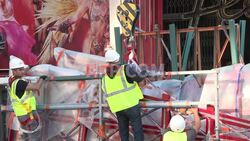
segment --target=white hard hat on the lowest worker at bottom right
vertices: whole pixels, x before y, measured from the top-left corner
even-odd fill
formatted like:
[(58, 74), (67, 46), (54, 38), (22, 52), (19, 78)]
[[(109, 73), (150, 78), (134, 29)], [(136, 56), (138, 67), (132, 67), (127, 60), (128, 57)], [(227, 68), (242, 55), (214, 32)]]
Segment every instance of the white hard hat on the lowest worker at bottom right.
[(184, 131), (186, 127), (185, 120), (180, 115), (173, 116), (170, 120), (169, 125), (170, 125), (171, 130), (174, 132), (182, 132)]

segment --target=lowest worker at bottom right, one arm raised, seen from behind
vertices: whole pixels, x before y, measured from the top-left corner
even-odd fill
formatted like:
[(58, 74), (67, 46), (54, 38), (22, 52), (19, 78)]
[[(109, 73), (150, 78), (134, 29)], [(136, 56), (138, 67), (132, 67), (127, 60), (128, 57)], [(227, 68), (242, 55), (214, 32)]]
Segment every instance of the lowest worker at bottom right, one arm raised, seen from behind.
[(201, 127), (201, 121), (197, 108), (191, 108), (189, 111), (194, 116), (194, 126), (185, 129), (186, 123), (181, 115), (175, 115), (171, 118), (167, 132), (163, 136), (163, 141), (195, 141), (196, 134)]

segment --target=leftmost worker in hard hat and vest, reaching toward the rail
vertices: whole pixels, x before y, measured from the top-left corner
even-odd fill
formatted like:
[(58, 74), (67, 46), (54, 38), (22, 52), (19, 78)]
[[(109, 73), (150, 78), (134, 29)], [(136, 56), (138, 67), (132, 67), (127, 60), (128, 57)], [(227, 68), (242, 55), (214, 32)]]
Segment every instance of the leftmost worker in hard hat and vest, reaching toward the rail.
[(41, 124), (36, 112), (36, 99), (32, 91), (39, 90), (46, 76), (41, 76), (36, 83), (27, 82), (22, 78), (26, 66), (23, 60), (10, 56), (9, 68), (12, 73), (9, 78), (10, 99), (20, 123), (20, 131), (23, 132), (22, 139), (36, 141), (41, 140)]

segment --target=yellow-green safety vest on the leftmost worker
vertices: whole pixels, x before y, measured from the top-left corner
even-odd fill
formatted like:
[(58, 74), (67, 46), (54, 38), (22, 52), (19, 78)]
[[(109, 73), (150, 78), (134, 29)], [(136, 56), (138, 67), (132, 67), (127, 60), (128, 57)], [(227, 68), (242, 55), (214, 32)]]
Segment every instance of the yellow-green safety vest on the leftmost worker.
[(17, 97), (16, 86), (19, 80), (17, 79), (11, 84), (10, 98), (16, 116), (24, 116), (31, 113), (32, 110), (36, 110), (36, 98), (32, 91), (24, 91), (21, 98)]

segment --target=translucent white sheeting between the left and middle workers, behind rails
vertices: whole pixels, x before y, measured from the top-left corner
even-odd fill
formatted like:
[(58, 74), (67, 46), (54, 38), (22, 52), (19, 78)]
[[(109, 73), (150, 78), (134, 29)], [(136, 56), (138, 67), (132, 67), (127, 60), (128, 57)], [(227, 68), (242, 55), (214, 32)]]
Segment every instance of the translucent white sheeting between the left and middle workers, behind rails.
[[(31, 75), (77, 76), (83, 72), (42, 64), (33, 67)], [(97, 102), (98, 80), (88, 81), (49, 81), (44, 84), (39, 104), (76, 104)], [(95, 110), (49, 110), (41, 114), (43, 120), (43, 138), (45, 140), (67, 133), (78, 121), (91, 128)]]

